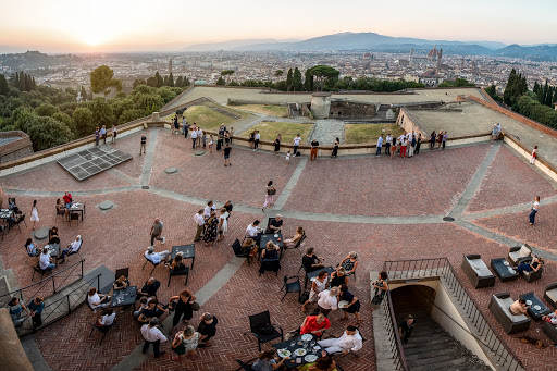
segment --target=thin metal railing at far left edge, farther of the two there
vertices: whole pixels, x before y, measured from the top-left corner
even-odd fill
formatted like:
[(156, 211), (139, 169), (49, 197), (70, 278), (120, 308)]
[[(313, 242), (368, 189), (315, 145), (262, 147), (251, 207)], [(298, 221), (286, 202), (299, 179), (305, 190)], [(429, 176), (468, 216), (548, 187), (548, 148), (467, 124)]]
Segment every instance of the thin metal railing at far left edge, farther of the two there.
[[(61, 287), (64, 287), (64, 285), (67, 286), (76, 282), (77, 280), (83, 279), (84, 261), (85, 259), (82, 259), (71, 265), (67, 265), (60, 272), (53, 273), (48, 277), (40, 280), (39, 282), (13, 290), (11, 293), (1, 295), (0, 306), (5, 307), (14, 296), (18, 297), (20, 301), (27, 302), (28, 300), (34, 299), (37, 296), (47, 297), (55, 294), (58, 290), (60, 290)], [(74, 277), (75, 280), (69, 281), (71, 277)]]

